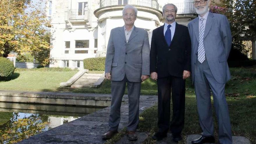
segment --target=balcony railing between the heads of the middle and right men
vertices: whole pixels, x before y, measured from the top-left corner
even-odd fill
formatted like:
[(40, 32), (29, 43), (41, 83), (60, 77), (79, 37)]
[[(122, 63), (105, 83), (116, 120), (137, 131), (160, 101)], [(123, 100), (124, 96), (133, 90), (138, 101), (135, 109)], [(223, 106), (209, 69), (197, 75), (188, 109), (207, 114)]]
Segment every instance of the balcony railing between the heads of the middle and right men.
[(177, 14), (196, 13), (193, 2), (189, 2), (189, 3), (173, 3), (173, 4), (175, 6), (177, 6), (177, 8), (178, 8)]

